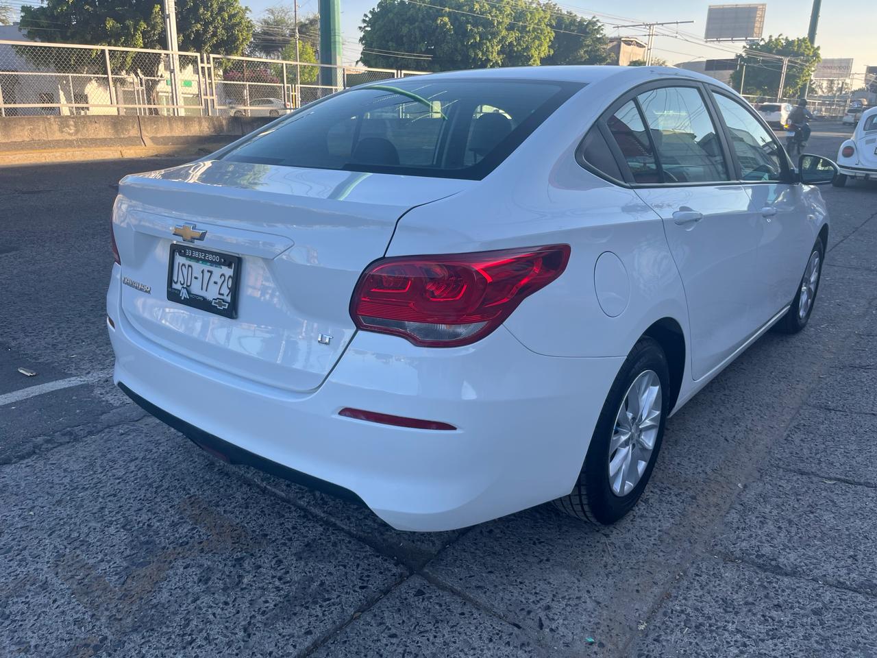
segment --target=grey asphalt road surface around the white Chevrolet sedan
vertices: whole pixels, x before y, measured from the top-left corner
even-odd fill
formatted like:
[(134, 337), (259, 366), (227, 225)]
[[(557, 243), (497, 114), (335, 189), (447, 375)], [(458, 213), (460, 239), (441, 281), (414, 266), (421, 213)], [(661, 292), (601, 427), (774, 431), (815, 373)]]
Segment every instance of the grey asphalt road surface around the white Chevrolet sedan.
[(669, 421), (627, 519), (417, 534), (113, 389), (115, 183), (175, 162), (0, 169), (0, 655), (877, 656), (877, 185), (824, 188), (808, 329)]

